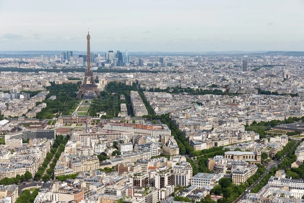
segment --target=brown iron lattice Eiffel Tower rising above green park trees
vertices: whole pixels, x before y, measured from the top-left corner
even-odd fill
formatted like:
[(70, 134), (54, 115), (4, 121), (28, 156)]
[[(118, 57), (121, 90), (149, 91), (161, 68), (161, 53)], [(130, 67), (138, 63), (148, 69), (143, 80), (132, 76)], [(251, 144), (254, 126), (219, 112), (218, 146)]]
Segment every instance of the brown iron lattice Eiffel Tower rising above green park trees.
[(85, 67), (85, 78), (83, 79), (82, 85), (78, 91), (76, 96), (79, 99), (84, 92), (94, 92), (95, 96), (99, 96), (99, 92), (97, 89), (97, 85), (95, 84), (95, 80), (93, 77), (92, 67), (91, 67), (91, 48), (90, 48), (90, 35), (88, 31), (87, 35), (87, 65)]

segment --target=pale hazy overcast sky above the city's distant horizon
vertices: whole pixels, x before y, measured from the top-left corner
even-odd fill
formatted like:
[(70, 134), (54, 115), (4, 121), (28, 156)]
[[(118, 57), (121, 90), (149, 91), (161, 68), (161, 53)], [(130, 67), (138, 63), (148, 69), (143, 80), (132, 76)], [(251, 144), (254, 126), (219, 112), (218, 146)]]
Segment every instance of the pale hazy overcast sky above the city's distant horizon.
[(0, 50), (304, 51), (303, 0), (0, 0)]

